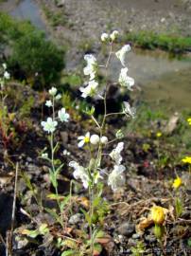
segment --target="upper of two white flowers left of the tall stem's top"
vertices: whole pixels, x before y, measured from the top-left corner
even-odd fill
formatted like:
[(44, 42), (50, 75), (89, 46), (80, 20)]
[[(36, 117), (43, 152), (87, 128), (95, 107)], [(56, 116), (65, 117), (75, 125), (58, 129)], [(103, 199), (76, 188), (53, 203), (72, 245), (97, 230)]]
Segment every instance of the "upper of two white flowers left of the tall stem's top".
[(96, 77), (96, 58), (92, 54), (86, 54), (84, 60), (87, 62), (87, 66), (83, 68), (85, 76), (90, 76), (90, 80), (94, 80)]

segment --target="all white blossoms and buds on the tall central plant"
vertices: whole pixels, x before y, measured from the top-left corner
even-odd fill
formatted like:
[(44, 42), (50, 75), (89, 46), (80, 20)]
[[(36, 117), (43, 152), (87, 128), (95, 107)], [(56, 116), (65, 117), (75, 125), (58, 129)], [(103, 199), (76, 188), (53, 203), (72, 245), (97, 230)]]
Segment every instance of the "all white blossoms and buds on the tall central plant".
[[(112, 46), (114, 40), (119, 36), (118, 31), (114, 30), (111, 34), (103, 33), (101, 35), (101, 41), (104, 43), (109, 43), (111, 46), (111, 54), (119, 59), (122, 64), (122, 68), (119, 74), (118, 82), (121, 86), (126, 87), (129, 90), (132, 90), (132, 86), (134, 85), (134, 80), (128, 76), (128, 67), (126, 63), (126, 55), (130, 51), (130, 45), (123, 46), (120, 50), (113, 52)], [(86, 86), (79, 87), (81, 92), (82, 98), (87, 97), (94, 97), (98, 95), (99, 85), (96, 81), (97, 69), (98, 67), (103, 67), (103, 65), (98, 65), (96, 61), (96, 57), (92, 54), (87, 54), (84, 56), (84, 60), (86, 61), (87, 65), (83, 69), (83, 73), (85, 76), (89, 77), (89, 82), (86, 82)], [(108, 62), (104, 67), (107, 69), (108, 63), (110, 61), (110, 57)], [(49, 104), (49, 103), (48, 103)], [(130, 103), (127, 101), (123, 102), (123, 111), (121, 114), (128, 116), (130, 118), (134, 118), (135, 116), (135, 109), (130, 107)], [(105, 113), (106, 115), (106, 113)], [(96, 122), (97, 124), (97, 122)], [(103, 126), (98, 124), (100, 129), (103, 129)], [(92, 153), (93, 150), (96, 150), (97, 147), (97, 157), (100, 157), (97, 160), (97, 163), (94, 165), (94, 170), (90, 170), (89, 167), (82, 167), (78, 164), (78, 162), (70, 162), (69, 166), (72, 167), (74, 171), (74, 177), (81, 179), (84, 188), (88, 188), (91, 184), (91, 181), (94, 180), (94, 183), (97, 182), (99, 178), (102, 178), (101, 172), (106, 173), (106, 169), (100, 170), (100, 160), (101, 156), (100, 151), (102, 152), (104, 145), (108, 144), (108, 137), (102, 136), (102, 132), (100, 132), (101, 136), (96, 134), (91, 135), (90, 132), (87, 132), (84, 136), (78, 137), (78, 147), (82, 148), (85, 145), (88, 145), (86, 149), (90, 150)], [(117, 138), (122, 138), (121, 132), (117, 134)], [(113, 191), (116, 191), (118, 188), (124, 185), (124, 177), (123, 173), (126, 170), (126, 167), (122, 165), (122, 155), (121, 152), (124, 149), (124, 143), (119, 142), (116, 145), (116, 148), (109, 154), (110, 157), (113, 159), (113, 170), (108, 174), (108, 185), (112, 187)]]

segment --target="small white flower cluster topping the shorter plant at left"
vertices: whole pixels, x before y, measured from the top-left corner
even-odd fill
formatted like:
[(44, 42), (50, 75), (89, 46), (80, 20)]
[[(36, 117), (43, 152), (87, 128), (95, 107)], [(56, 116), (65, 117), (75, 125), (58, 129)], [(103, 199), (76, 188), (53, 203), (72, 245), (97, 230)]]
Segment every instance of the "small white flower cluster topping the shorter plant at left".
[[(61, 94), (57, 94), (57, 88), (52, 87), (49, 91), (49, 95), (52, 97), (52, 100), (46, 101), (45, 105), (47, 107), (52, 107), (54, 112), (54, 104), (55, 101), (59, 101), (61, 99)], [(66, 113), (65, 108), (62, 107), (61, 110), (58, 112), (58, 117), (55, 118), (55, 115), (53, 115), (53, 118), (48, 117), (46, 121), (42, 121), (43, 131), (47, 132), (48, 134), (54, 133), (59, 119), (61, 122), (67, 122), (70, 118), (70, 115)]]

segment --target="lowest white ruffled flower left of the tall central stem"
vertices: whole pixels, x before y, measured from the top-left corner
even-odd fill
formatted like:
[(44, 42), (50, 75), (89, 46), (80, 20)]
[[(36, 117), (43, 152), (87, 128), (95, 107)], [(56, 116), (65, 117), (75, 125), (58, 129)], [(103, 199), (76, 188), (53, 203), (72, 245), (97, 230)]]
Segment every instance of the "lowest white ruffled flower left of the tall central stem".
[(75, 172), (73, 173), (74, 177), (76, 179), (80, 178), (83, 183), (83, 187), (87, 189), (89, 185), (89, 177), (85, 168), (80, 166), (76, 161), (69, 162), (69, 166), (75, 169)]

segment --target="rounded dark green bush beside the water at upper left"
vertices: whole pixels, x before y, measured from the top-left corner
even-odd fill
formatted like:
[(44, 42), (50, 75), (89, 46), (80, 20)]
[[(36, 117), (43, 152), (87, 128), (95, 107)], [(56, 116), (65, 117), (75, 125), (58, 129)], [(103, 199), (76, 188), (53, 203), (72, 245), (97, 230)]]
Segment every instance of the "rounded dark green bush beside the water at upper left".
[(0, 12), (0, 34), (1, 43), (11, 48), (9, 66), (12, 70), (18, 71), (19, 66), (22, 77), (32, 85), (40, 83), (38, 89), (59, 81), (64, 50), (48, 41), (43, 32), (28, 22), (15, 21)]

